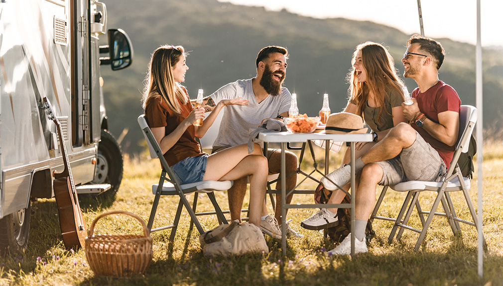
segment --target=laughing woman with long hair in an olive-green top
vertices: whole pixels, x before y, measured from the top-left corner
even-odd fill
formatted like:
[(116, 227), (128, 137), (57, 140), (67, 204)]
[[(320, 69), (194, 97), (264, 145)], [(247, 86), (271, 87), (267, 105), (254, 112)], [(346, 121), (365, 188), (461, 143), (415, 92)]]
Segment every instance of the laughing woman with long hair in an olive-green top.
[[(386, 136), (389, 130), (400, 122), (405, 122), (402, 113), (403, 81), (398, 78), (394, 61), (381, 44), (366, 42), (356, 47), (351, 60), (352, 68), (347, 80), (349, 100), (344, 112), (360, 115), (372, 129), (373, 142), (357, 142), (355, 158), (361, 158), (376, 142)], [(346, 151), (342, 165), (350, 161), (350, 150)], [(321, 179), (325, 189), (334, 191), (337, 186), (329, 180), (330, 174)], [(350, 185), (343, 189), (347, 192)], [(328, 204), (339, 204), (346, 193), (337, 190), (331, 193)], [(337, 225), (337, 208), (323, 208), (301, 225), (311, 230), (319, 230)], [(367, 222), (365, 222), (367, 223)], [(365, 229), (365, 228), (364, 228)]]

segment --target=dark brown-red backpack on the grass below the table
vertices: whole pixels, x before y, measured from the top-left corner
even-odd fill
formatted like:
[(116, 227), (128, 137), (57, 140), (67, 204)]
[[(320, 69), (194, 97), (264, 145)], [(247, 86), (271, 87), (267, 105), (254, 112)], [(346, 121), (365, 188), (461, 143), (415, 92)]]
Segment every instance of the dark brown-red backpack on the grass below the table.
[[(323, 185), (319, 184), (314, 191), (314, 201), (317, 204), (326, 204), (328, 198), (332, 191), (326, 190)], [(341, 202), (342, 204), (350, 203), (350, 196), (346, 194), (346, 197)], [(330, 237), (331, 240), (335, 242), (343, 241), (348, 234), (351, 232), (351, 210), (347, 208), (337, 209), (338, 224), (336, 226), (329, 227), (325, 229), (325, 233)], [(372, 229), (372, 223), (370, 220), (367, 222), (367, 227), (365, 228), (365, 235), (367, 241), (370, 241), (375, 235), (375, 231)]]

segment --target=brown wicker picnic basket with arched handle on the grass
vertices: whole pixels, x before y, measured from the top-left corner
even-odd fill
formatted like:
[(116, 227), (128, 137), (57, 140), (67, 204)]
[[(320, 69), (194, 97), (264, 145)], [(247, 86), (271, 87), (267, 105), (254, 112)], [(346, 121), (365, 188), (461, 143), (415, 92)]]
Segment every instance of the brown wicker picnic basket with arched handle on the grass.
[[(96, 222), (107, 215), (126, 214), (137, 219), (145, 235), (97, 234)], [(112, 211), (99, 215), (91, 224), (86, 237), (86, 257), (96, 275), (131, 276), (143, 274), (152, 260), (152, 237), (145, 222), (137, 215), (125, 211)]]

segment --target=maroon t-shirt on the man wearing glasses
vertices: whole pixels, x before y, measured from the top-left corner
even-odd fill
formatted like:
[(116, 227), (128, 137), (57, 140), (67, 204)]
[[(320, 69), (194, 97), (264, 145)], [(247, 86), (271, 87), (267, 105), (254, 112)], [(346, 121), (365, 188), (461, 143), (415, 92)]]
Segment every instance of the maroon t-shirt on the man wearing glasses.
[[(439, 123), (439, 113), (444, 111), (456, 111), (459, 113), (461, 106), (458, 93), (454, 88), (441, 80), (424, 93), (419, 92), (419, 88), (417, 87), (412, 91), (411, 96), (417, 100), (419, 110), (425, 113), (428, 119), (436, 123)], [(444, 160), (445, 165), (449, 168), (456, 146), (449, 146), (437, 140), (423, 127), (417, 127), (415, 124), (412, 124), (412, 127), (433, 147), (433, 149), (437, 150), (440, 157)]]

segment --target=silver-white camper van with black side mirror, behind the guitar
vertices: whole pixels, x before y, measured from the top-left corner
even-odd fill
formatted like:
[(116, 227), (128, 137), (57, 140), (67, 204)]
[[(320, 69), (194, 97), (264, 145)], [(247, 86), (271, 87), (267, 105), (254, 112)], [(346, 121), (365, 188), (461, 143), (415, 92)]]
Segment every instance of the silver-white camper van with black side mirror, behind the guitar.
[(107, 30), (104, 3), (0, 0), (0, 254), (27, 246), (31, 202), (54, 197), (64, 153), (77, 194), (117, 191), (122, 152), (107, 130), (100, 66), (120, 70), (132, 57), (127, 34)]

